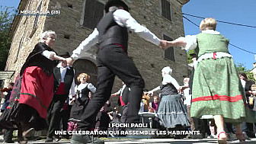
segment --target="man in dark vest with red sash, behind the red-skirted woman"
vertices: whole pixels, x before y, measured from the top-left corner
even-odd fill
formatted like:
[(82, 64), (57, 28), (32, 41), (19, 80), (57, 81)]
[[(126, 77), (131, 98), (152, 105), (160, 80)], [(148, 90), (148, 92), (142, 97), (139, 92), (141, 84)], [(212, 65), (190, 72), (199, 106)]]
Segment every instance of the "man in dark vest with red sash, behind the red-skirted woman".
[[(69, 57), (69, 53), (61, 55), (64, 58)], [(75, 80), (74, 69), (67, 66), (64, 62), (59, 64), (53, 69), (54, 85), (53, 85), (53, 101), (47, 112), (47, 119), (49, 123), (49, 129), (47, 133), (46, 142), (59, 141), (59, 136), (54, 135), (54, 131), (60, 130), (60, 111), (64, 106), (66, 99), (72, 99), (75, 95)]]

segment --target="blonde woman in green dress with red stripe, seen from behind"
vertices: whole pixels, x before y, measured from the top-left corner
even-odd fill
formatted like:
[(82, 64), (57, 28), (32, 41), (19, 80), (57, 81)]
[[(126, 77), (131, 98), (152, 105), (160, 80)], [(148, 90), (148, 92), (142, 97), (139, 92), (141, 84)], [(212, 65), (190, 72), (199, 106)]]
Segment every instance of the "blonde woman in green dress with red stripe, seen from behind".
[(218, 142), (226, 143), (224, 121), (235, 124), (236, 136), (244, 141), (241, 124), (247, 117), (245, 95), (235, 63), (229, 53), (229, 39), (216, 31), (216, 20), (205, 18), (200, 23), (200, 34), (180, 37), (168, 46), (195, 49), (198, 55), (194, 72), (191, 117), (213, 115)]

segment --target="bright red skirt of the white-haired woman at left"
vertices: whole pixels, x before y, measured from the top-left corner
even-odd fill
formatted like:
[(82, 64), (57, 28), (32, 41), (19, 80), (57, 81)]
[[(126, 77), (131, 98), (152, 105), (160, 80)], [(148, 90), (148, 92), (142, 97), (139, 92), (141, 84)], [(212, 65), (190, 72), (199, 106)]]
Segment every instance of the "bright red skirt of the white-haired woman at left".
[(53, 75), (46, 75), (40, 67), (25, 69), (21, 82), (20, 104), (27, 104), (46, 119), (47, 108), (53, 99)]

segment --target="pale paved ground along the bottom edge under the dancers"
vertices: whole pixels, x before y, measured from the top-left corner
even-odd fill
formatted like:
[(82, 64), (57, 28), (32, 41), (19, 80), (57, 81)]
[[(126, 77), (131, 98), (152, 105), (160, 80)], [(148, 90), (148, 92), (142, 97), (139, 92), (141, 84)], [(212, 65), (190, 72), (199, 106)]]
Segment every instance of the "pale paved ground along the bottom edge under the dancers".
[[(200, 143), (200, 144), (211, 144), (211, 143), (217, 143), (216, 139), (115, 139), (115, 138), (110, 138), (110, 139), (104, 139), (106, 144), (125, 144), (125, 143), (138, 143), (138, 144), (166, 144), (166, 143), (171, 143), (171, 144), (192, 144), (192, 143)], [(3, 142), (3, 136), (0, 136), (0, 143)], [(18, 142), (15, 142), (18, 143)], [(45, 143), (44, 139), (37, 140), (37, 141), (29, 141), (28, 143)], [(50, 142), (50, 143), (70, 143), (69, 139), (62, 139), (59, 142)], [(235, 141), (229, 141), (229, 144), (231, 143), (240, 143), (238, 140)], [(248, 139), (244, 143), (248, 144), (255, 144), (256, 143), (256, 138), (254, 139)]]

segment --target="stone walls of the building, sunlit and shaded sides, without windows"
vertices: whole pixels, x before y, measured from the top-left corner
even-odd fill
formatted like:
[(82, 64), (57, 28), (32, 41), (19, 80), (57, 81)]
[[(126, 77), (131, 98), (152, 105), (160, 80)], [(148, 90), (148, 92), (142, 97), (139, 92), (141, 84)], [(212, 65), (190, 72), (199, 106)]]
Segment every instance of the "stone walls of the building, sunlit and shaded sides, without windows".
[[(25, 0), (23, 0), (25, 1)], [(27, 1), (27, 7), (29, 2)], [(105, 3), (105, 0), (99, 0)], [(149, 28), (157, 37), (163, 38), (163, 34), (176, 39), (184, 35), (184, 25), (181, 14), (181, 2), (169, 0), (171, 2), (172, 21), (162, 17), (161, 1), (160, 0), (125, 0), (130, 7), (130, 14), (139, 24)], [(31, 9), (37, 8), (40, 0), (32, 2)], [(21, 69), (27, 55), (33, 50), (34, 45), (39, 41), (40, 34), (44, 30), (54, 30), (57, 34), (56, 52), (69, 51), (72, 53), (82, 40), (85, 40), (92, 30), (82, 27), (82, 8), (85, 0), (43, 0), (43, 10), (59, 10), (60, 14), (55, 16), (41, 16), (39, 24), (33, 37), (29, 37), (32, 31), (34, 16), (23, 17), (18, 24), (18, 28), (14, 33), (13, 42), (11, 44), (11, 51), (8, 57), (6, 70), (15, 70), (17, 72)], [(72, 5), (72, 6), (71, 6)], [(18, 52), (21, 37), (24, 35), (23, 44), (15, 61), (15, 56)], [(65, 38), (69, 36), (69, 39)], [(180, 85), (183, 84), (183, 78), (187, 76), (187, 53), (178, 48), (174, 49), (175, 62), (163, 58), (163, 50), (158, 46), (143, 40), (138, 35), (130, 33), (129, 37), (129, 56), (133, 58), (139, 72), (146, 82), (146, 89), (151, 90), (162, 82), (161, 70), (165, 66), (170, 66), (173, 69), (173, 77), (177, 79)], [(95, 59), (96, 48), (92, 48), (91, 59)], [(114, 90), (117, 91), (121, 86), (120, 79), (114, 84)]]

